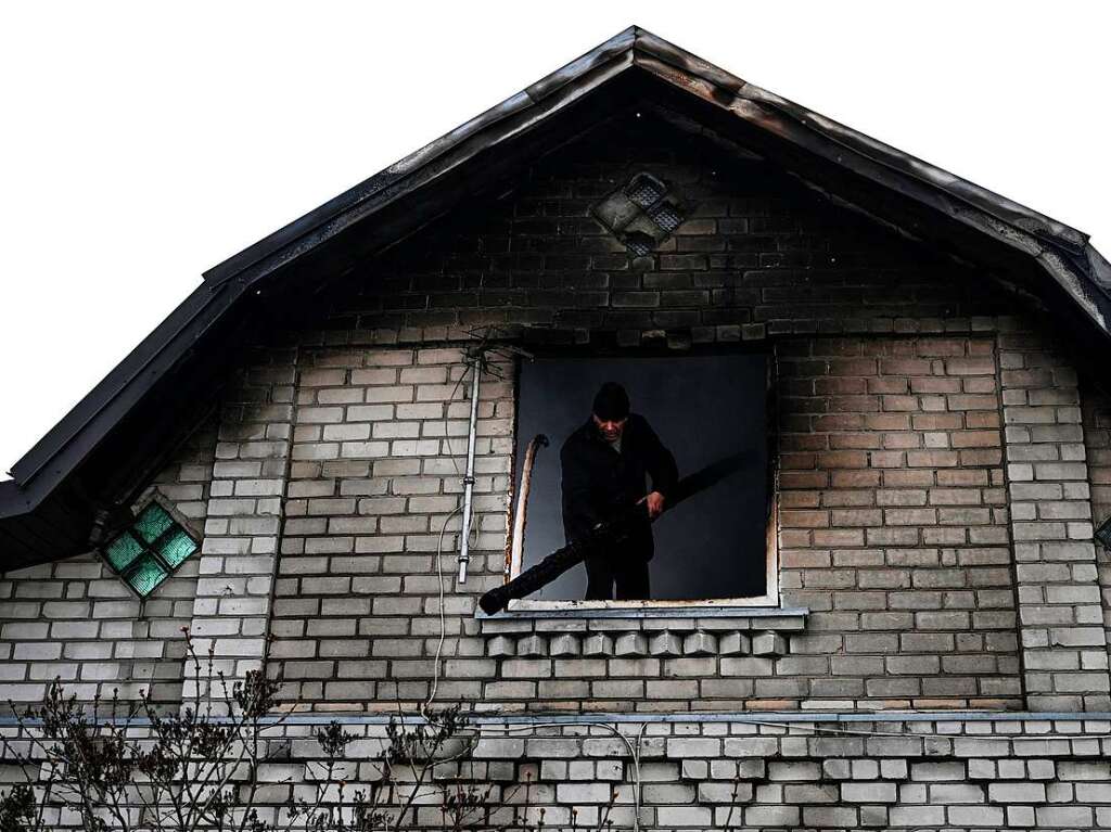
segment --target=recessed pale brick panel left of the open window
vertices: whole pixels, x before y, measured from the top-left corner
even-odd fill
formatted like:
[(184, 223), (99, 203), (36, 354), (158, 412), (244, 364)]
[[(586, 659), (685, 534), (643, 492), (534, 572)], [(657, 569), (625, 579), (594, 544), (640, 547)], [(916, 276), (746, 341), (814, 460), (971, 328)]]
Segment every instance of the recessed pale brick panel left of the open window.
[[(474, 612), (470, 590), (501, 574), (513, 400), (509, 383), (484, 379), (473, 503), (479, 554), (459, 594), (460, 519), (452, 512), (461, 502), (469, 415), (462, 361), (458, 348), (302, 355), (271, 649), (290, 695), (356, 710), (428, 695), (440, 633), (436, 555), (447, 523), (449, 661), (440, 692), (481, 696), (478, 680), (493, 662), (481, 658), (480, 640), (459, 635)], [(512, 371), (507, 363), (492, 369)]]

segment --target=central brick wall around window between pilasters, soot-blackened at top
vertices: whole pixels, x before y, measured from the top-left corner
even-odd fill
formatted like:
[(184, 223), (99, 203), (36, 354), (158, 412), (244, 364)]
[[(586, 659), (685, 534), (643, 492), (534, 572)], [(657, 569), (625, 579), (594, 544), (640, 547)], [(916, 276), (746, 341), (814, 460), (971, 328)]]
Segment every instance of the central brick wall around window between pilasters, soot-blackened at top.
[[(640, 169), (693, 207), (658, 254), (630, 258), (589, 208)], [(367, 263), (332, 310), (302, 337), (274, 608), (272, 656), (302, 696), (382, 708), (429, 690), (431, 551), (460, 489), (449, 449), (462, 453), (439, 420), (454, 393), (447, 429), (462, 437), (466, 390), (452, 389), (458, 350), (406, 344), (498, 323), (567, 344), (773, 341), (783, 597), (813, 612), (801, 632), (625, 622), (627, 638), (611, 626), (599, 641), (540, 622), (478, 638), (474, 595), (500, 580), (512, 431), (512, 391), (488, 384), (484, 560), (469, 588), (446, 569), (443, 695), (537, 710), (1021, 705), (994, 352), (1014, 310), (974, 273), (764, 166), (619, 126), (503, 203)]]

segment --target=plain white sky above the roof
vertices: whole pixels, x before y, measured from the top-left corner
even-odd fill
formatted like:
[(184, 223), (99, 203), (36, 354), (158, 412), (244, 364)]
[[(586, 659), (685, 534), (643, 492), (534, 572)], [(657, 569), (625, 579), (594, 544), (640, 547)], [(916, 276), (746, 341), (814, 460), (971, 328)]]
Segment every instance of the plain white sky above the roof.
[(4, 3), (0, 472), (203, 270), (631, 23), (1111, 255), (1107, 3)]

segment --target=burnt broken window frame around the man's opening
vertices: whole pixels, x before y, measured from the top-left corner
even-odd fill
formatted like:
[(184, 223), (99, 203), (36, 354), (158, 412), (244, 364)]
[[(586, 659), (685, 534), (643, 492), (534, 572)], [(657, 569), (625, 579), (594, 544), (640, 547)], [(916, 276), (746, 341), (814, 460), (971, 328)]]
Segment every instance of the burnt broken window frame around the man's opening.
[[(673, 610), (675, 614), (688, 612), (698, 614), (699, 610), (707, 608), (744, 608), (744, 609), (780, 609), (782, 600), (780, 595), (779, 580), (779, 467), (780, 467), (780, 442), (779, 442), (779, 379), (777, 351), (774, 344), (761, 344), (757, 348), (739, 349), (712, 349), (699, 351), (699, 355), (729, 355), (744, 352), (763, 353), (765, 357), (765, 381), (764, 381), (764, 424), (768, 443), (768, 465), (767, 477), (767, 520), (764, 524), (764, 594), (748, 595), (742, 598), (713, 598), (713, 599), (647, 599), (637, 601), (582, 601), (574, 599), (539, 600), (539, 599), (514, 599), (510, 601), (507, 612), (559, 612), (575, 611), (589, 615), (591, 612), (605, 612), (611, 610), (625, 610), (630, 612), (651, 610)], [(657, 352), (648, 350), (637, 351), (614, 351), (605, 352), (591, 350), (589, 353), (581, 350), (546, 350), (538, 354), (544, 358), (578, 358), (589, 360), (590, 358), (653, 358), (653, 357), (675, 357), (674, 352)], [(510, 462), (510, 482), (508, 494), (508, 507), (506, 510), (506, 562), (503, 580), (509, 582), (517, 578), (520, 570), (512, 569), (513, 548), (513, 511), (517, 504), (517, 463), (518, 453), (523, 453), (524, 448), (518, 442), (518, 430), (520, 424), (520, 390), (521, 390), (521, 367), (522, 360), (517, 359), (513, 365), (513, 450)], [(523, 563), (522, 563), (523, 565)]]

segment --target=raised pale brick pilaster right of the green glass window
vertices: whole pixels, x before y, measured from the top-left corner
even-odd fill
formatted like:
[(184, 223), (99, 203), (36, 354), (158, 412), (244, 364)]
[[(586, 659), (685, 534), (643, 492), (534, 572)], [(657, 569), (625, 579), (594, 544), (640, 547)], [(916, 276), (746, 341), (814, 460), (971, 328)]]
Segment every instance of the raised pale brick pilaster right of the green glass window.
[[(292, 441), (297, 352), (258, 349), (226, 393), (190, 632), (234, 681), (266, 656)], [(186, 662), (187, 684), (196, 675)]]

